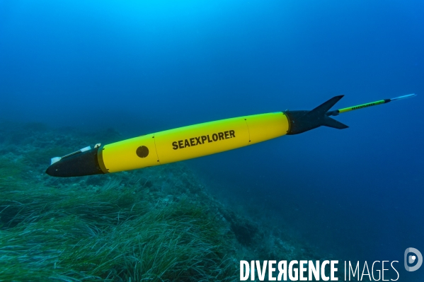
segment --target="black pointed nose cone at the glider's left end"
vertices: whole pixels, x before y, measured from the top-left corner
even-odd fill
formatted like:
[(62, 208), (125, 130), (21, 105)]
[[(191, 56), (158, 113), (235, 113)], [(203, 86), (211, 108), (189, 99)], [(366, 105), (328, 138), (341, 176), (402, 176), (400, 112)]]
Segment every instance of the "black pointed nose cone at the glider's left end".
[(98, 165), (98, 148), (77, 153), (66, 158), (62, 158), (50, 165), (45, 173), (55, 177), (73, 177), (84, 175), (99, 175), (104, 172)]

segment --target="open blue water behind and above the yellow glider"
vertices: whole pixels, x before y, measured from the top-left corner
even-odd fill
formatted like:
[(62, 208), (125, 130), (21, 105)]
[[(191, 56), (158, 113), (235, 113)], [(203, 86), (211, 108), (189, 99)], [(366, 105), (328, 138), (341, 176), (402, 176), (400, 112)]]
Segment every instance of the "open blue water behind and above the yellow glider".
[(130, 137), (417, 93), (336, 117), (349, 129), (186, 162), (299, 240), (398, 260), (413, 281), (424, 269), (402, 269), (407, 247), (424, 253), (423, 15), (422, 0), (0, 1), (0, 119)]

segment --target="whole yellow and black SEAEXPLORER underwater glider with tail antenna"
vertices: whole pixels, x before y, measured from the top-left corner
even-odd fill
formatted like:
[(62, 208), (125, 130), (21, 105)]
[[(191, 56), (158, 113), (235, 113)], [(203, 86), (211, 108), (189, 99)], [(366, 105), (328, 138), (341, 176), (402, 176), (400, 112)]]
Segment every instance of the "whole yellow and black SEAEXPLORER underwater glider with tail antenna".
[(55, 177), (74, 177), (135, 170), (229, 151), (321, 126), (345, 129), (347, 125), (330, 116), (413, 96), (416, 94), (330, 111), (343, 98), (340, 95), (310, 111), (253, 114), (160, 131), (105, 146), (96, 144), (94, 148), (88, 146), (63, 157), (52, 158), (46, 173)]

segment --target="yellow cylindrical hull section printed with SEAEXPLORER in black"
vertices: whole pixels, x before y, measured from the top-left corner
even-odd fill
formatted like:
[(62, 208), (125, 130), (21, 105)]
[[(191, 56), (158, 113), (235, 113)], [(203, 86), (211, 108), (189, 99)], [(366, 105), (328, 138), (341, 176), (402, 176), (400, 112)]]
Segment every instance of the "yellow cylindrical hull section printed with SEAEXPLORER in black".
[(288, 130), (283, 112), (234, 117), (111, 143), (99, 149), (98, 159), (105, 173), (135, 170), (241, 148)]

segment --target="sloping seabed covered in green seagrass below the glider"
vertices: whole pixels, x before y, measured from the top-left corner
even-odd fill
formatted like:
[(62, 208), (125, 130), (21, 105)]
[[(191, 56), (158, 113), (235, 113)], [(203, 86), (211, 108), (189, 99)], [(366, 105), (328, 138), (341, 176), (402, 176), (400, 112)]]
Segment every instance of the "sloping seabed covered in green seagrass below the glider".
[(0, 281), (239, 281), (240, 260), (333, 259), (288, 226), (222, 204), (184, 163), (45, 174), (52, 157), (121, 139), (0, 124)]

